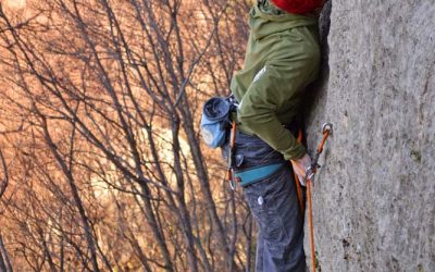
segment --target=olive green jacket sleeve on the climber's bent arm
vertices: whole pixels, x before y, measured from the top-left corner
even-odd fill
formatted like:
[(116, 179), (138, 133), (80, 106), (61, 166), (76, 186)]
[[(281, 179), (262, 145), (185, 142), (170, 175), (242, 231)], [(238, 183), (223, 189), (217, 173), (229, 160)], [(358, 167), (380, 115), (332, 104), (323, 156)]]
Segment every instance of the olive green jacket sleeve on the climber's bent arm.
[(318, 74), (319, 59), (318, 53), (299, 51), (284, 60), (266, 61), (264, 71), (257, 74), (240, 101), (239, 122), (286, 160), (299, 159), (306, 150), (281, 124), (277, 113), (299, 109), (303, 88)]

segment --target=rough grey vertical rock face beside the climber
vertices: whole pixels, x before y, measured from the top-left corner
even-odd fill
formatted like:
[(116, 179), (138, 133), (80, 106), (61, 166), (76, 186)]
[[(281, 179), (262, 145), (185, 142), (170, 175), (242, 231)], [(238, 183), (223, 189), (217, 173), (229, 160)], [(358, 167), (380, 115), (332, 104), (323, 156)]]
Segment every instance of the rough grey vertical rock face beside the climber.
[(325, 41), (308, 120), (311, 149), (335, 128), (313, 195), (321, 269), (435, 271), (435, 3), (335, 0)]

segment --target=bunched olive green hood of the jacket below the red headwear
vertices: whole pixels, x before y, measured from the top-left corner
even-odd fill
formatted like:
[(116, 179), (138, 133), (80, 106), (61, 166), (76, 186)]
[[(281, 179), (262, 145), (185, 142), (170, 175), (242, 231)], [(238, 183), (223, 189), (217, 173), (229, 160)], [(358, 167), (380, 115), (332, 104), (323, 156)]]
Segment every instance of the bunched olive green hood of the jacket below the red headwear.
[(249, 13), (249, 26), (254, 39), (281, 33), (293, 27), (318, 24), (316, 16), (284, 13), (279, 15), (263, 13), (257, 4)]

